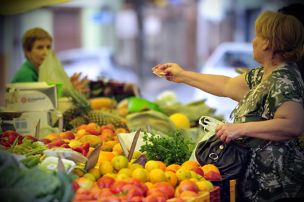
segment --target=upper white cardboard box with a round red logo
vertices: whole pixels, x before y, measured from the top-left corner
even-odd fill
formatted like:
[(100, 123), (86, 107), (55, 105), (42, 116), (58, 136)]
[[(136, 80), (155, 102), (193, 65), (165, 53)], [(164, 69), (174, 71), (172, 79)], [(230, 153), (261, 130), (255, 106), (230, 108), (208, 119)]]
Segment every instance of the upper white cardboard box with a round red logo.
[(5, 102), (6, 107), (14, 111), (57, 109), (57, 86), (45, 82), (6, 84)]

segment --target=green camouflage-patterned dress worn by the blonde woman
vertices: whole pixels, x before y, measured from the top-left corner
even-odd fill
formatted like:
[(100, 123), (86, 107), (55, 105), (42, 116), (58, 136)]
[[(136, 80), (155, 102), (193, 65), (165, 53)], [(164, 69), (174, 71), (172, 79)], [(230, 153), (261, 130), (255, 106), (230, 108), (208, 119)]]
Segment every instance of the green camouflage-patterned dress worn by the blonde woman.
[[(285, 101), (303, 103), (303, 80), (295, 63), (277, 67), (261, 81), (264, 67), (246, 74), (250, 87), (239, 102), (234, 123), (273, 119)], [(292, 128), (290, 128), (292, 130)], [(240, 179), (241, 195), (246, 201), (274, 201), (284, 197), (304, 197), (304, 133), (298, 138), (269, 142), (251, 158)], [(249, 148), (257, 148), (264, 140), (251, 137), (238, 139)]]

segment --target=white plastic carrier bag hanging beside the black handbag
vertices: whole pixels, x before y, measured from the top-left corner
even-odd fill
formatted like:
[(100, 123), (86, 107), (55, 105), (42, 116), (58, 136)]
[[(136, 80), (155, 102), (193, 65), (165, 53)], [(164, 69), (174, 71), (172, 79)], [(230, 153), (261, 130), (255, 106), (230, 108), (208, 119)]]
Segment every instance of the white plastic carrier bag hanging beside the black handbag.
[[(206, 133), (206, 135), (204, 135), (204, 137), (199, 142), (202, 142), (202, 141), (205, 141), (205, 140), (209, 139), (212, 135), (215, 134), (214, 131), (215, 131), (216, 126), (222, 125), (223, 123), (226, 123), (226, 121), (219, 121), (219, 120), (217, 120), (215, 118), (212, 118), (212, 117), (209, 117), (209, 116), (202, 116), (199, 119), (199, 124), (203, 126), (204, 132)], [(199, 144), (199, 142), (197, 142), (197, 144)], [(196, 145), (196, 147), (197, 147), (197, 145)], [(195, 161), (196, 163), (199, 163), (196, 160), (196, 157), (195, 157), (196, 147), (193, 150), (189, 160), (192, 160), (192, 161)]]

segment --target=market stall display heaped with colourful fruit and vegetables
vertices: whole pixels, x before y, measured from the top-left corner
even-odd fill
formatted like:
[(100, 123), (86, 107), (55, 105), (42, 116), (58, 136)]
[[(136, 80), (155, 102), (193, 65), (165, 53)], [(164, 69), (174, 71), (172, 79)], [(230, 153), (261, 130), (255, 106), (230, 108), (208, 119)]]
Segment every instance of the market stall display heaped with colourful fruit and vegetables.
[[(63, 118), (53, 120), (51, 128), (59, 131), (58, 134), (40, 133), (39, 136), (39, 125), (36, 134), (24, 137), (13, 130), (2, 132), (1, 179), (10, 176), (11, 183), (6, 188), (13, 190), (2, 192), (3, 199), (236, 200), (237, 180), (221, 176), (216, 166), (189, 160), (195, 141), (204, 135), (197, 127), (198, 120), (190, 120), (179, 111), (164, 112), (161, 101), (149, 102), (130, 94), (129, 97), (119, 95), (123, 98), (120, 101), (114, 95), (88, 98), (75, 89), (62, 95), (70, 104), (61, 111)], [(193, 110), (193, 106), (198, 105), (202, 108), (202, 104), (190, 104), (181, 109)], [(137, 132), (132, 132), (137, 127)], [(12, 173), (8, 174), (12, 167)], [(31, 194), (14, 195), (15, 190), (24, 186), (22, 176), (35, 172), (42, 177), (27, 181), (28, 186), (33, 187), (29, 189)], [(55, 182), (41, 182), (50, 178)], [(45, 186), (44, 191), (38, 191), (39, 184)]]

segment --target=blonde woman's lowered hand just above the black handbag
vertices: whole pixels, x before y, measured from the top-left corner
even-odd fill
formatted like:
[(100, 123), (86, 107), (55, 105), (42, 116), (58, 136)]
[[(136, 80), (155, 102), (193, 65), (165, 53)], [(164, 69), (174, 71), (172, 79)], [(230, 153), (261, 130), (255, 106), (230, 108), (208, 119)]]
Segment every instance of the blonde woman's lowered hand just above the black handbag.
[(242, 137), (242, 125), (237, 123), (224, 123), (218, 125), (214, 132), (220, 140), (229, 143), (233, 139)]

